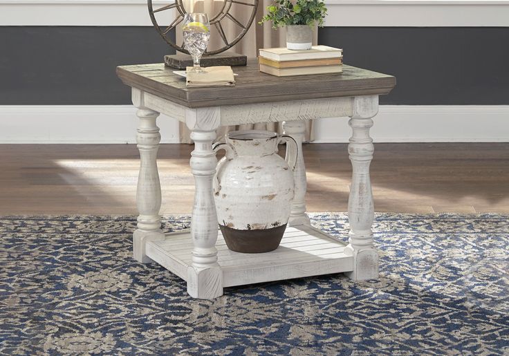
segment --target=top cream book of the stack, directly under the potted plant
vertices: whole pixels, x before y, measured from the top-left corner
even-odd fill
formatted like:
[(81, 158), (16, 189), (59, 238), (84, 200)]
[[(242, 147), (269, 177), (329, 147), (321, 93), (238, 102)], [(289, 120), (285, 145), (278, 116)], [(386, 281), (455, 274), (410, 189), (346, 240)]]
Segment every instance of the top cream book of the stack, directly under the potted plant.
[(313, 46), (311, 50), (289, 50), (288, 48), (260, 48), (260, 57), (273, 61), (295, 61), (299, 59), (340, 58), (343, 55), (341, 48), (329, 46)]

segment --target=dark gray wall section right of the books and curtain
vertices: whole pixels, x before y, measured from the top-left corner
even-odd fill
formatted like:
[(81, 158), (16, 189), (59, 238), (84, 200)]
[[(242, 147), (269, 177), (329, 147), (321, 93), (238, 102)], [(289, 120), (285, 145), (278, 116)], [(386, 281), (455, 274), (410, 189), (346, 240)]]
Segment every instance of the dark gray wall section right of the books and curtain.
[(396, 75), (384, 104), (509, 104), (509, 28), (322, 28), (344, 62)]

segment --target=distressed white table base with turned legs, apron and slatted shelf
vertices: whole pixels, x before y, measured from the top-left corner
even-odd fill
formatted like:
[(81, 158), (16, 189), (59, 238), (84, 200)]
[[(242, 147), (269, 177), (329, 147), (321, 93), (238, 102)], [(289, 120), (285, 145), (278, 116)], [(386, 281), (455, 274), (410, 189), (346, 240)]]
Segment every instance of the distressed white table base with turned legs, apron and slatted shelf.
[[(146, 261), (154, 259), (184, 278), (189, 294), (200, 299), (219, 297), (223, 294), (225, 286), (333, 272), (348, 272), (355, 280), (378, 277), (378, 254), (373, 247), (371, 233), (373, 198), (369, 181), (369, 163), (373, 156), (369, 128), (373, 124), (371, 118), (378, 111), (378, 96), (350, 97), (326, 102), (330, 106), (323, 106), (325, 103), (323, 100), (304, 100), (298, 104), (290, 102), (279, 103), (276, 106), (259, 104), (260, 109), (253, 108), (250, 104), (189, 109), (133, 89), (133, 103), (140, 108), (138, 116), (143, 123), (140, 124), (139, 133), (140, 152), (142, 149), (145, 150), (142, 153), (140, 177), (143, 176), (143, 179), (140, 179), (142, 183), (139, 190), (148, 191), (148, 194), (138, 196), (138, 200), (142, 202), (141, 209), (150, 211), (149, 214), (141, 214), (140, 209), (140, 216), (144, 219), (140, 222), (141, 225), (138, 225), (137, 232), (139, 234), (141, 226), (145, 238), (136, 245), (138, 247), (135, 246), (135, 250), (140, 251), (140, 259)], [(292, 108), (293, 104), (297, 109)], [(305, 129), (303, 120), (331, 115), (331, 111), (334, 111), (335, 115), (350, 116), (353, 131), (349, 144), (353, 165), (349, 198), (351, 232), (349, 245), (346, 247), (334, 238), (310, 227), (304, 200), (306, 169), (302, 156)], [(160, 207), (160, 188), (155, 162), (157, 144), (160, 140), (156, 127), (158, 112), (169, 115), (173, 112), (175, 118), (184, 121), (192, 130), (191, 138), (195, 142), (190, 161), (196, 182), (191, 229), (189, 233), (172, 234), (164, 239), (161, 238), (159, 216), (156, 214)], [(237, 118), (232, 117), (233, 113)], [(291, 236), (290, 240), (286, 240), (289, 244), (283, 244), (273, 252), (249, 256), (228, 250), (224, 246), (223, 238), (218, 241), (218, 221), (212, 186), (217, 160), (212, 142), (216, 138), (215, 130), (221, 124), (250, 122), (254, 120), (253, 113), (259, 115), (257, 122), (284, 120), (296, 115), (294, 119), (297, 120), (284, 122), (284, 131), (295, 140), (295, 147), (288, 146), (288, 158), (297, 151), (297, 160), (293, 177), (295, 197), (290, 209), (291, 227), (288, 227), (285, 234), (287, 237)], [(231, 147), (230, 149), (233, 151)], [(157, 184), (147, 183), (154, 180)], [(149, 203), (146, 201), (147, 197)], [(145, 216), (150, 216), (151, 220), (147, 222)], [(295, 229), (295, 226), (298, 228)], [(150, 233), (146, 233), (149, 230)], [(151, 241), (148, 241), (149, 239)], [(304, 250), (299, 250), (301, 247)], [(328, 250), (329, 248), (333, 250)]]

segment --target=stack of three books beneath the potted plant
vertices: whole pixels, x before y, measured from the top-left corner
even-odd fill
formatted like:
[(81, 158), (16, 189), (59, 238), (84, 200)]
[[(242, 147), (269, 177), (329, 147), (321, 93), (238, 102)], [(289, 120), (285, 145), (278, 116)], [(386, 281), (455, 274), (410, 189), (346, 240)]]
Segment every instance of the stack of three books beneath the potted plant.
[(328, 46), (313, 46), (311, 50), (260, 48), (258, 62), (261, 72), (277, 77), (342, 73), (343, 50)]

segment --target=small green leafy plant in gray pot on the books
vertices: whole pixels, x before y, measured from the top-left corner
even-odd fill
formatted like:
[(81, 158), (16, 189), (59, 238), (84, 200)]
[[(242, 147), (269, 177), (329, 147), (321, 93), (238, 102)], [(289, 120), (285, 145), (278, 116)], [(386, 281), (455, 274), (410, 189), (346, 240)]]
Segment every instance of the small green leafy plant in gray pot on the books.
[(311, 49), (313, 27), (324, 26), (327, 14), (324, 0), (275, 0), (267, 11), (260, 24), (272, 21), (272, 28), (286, 26), (286, 48), (290, 50)]

